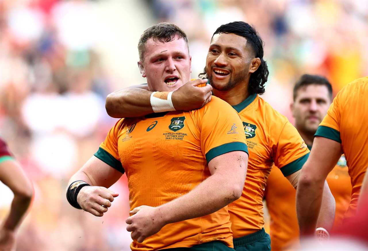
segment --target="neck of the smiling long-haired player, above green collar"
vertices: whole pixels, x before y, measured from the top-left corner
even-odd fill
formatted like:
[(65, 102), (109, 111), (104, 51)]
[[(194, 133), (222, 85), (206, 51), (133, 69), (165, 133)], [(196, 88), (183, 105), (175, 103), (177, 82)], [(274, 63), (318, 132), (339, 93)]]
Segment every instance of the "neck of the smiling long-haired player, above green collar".
[(212, 93), (213, 95), (221, 98), (230, 105), (240, 104), (249, 96), (248, 85), (244, 85), (243, 83), (239, 83), (233, 89), (230, 89), (228, 91), (219, 91), (216, 89), (212, 89)]

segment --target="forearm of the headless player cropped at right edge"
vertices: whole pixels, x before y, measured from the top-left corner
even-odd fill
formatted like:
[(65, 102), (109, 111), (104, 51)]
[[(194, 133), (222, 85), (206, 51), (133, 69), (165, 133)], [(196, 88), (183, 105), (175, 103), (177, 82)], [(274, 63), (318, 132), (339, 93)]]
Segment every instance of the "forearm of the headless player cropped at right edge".
[[(301, 176), (303, 177), (303, 174)], [(296, 207), (301, 236), (315, 231), (322, 204), (323, 184), (323, 180), (322, 182), (312, 182), (303, 178), (299, 180)]]

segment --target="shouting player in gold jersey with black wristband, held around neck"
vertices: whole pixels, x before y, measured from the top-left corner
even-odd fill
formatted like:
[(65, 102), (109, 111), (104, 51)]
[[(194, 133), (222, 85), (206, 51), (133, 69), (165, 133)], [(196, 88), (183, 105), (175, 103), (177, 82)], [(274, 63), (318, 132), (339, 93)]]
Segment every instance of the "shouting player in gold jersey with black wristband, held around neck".
[[(138, 50), (148, 88), (160, 91), (151, 97), (159, 107), (190, 80), (187, 37), (176, 25), (160, 23), (143, 33)], [(195, 111), (120, 119), (70, 179), (68, 201), (102, 216), (117, 196), (107, 187), (125, 172), (132, 250), (230, 250), (225, 206), (241, 196), (248, 161), (242, 126), (216, 97)]]

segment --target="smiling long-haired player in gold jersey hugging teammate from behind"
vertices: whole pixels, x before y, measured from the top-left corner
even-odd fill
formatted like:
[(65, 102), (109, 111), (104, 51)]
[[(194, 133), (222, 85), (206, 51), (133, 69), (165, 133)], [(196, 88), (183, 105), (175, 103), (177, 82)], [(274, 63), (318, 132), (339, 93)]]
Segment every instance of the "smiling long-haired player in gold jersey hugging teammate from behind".
[[(201, 76), (208, 77), (214, 96), (238, 112), (247, 135), (250, 153), (247, 179), (241, 198), (229, 205), (234, 247), (236, 250), (270, 250), (270, 238), (263, 229), (262, 200), (266, 180), (275, 163), (296, 187), (309, 150), (287, 118), (258, 95), (265, 92), (268, 68), (263, 60), (262, 39), (252, 26), (245, 22), (221, 25), (212, 36), (205, 72)], [(188, 96), (201, 91), (192, 82), (181, 88), (191, 89)], [(179, 91), (180, 88), (176, 92)], [(179, 95), (174, 94), (172, 103), (180, 103)], [(139, 88), (122, 89), (109, 95), (106, 110), (117, 117), (144, 115), (153, 110), (149, 102), (151, 95)], [(185, 97), (182, 100), (186, 103)], [(174, 108), (177, 107), (174, 105)], [(335, 215), (335, 200), (327, 184), (325, 195), (327, 211), (321, 215), (319, 223), (330, 228)]]

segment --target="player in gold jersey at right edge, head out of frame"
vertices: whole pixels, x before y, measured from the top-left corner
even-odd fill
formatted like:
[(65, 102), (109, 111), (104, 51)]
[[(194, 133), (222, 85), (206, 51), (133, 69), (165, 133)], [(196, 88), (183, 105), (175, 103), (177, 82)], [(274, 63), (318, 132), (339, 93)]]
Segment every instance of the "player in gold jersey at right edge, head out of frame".
[(354, 80), (337, 93), (315, 133), (313, 148), (302, 168), (297, 190), (301, 234), (314, 231), (321, 207), (323, 180), (345, 155), (353, 186), (346, 217), (355, 214), (368, 166), (368, 77)]

